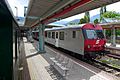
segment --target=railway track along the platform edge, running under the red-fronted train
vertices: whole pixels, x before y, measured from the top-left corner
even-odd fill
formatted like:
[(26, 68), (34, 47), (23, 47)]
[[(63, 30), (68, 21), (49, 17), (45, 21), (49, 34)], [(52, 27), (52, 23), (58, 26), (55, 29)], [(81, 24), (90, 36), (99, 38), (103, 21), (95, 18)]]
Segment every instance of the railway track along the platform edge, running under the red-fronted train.
[[(46, 46), (48, 46), (48, 45), (46, 45)], [(79, 63), (79, 61), (83, 61), (83, 62), (88, 63), (90, 65), (94, 64), (93, 66), (95, 66), (95, 67), (97, 67), (99, 69), (102, 69), (102, 70), (104, 70), (106, 72), (112, 73), (112, 74), (114, 74), (117, 77), (120, 77), (120, 73), (119, 73), (120, 69), (119, 68), (112, 67), (109, 64), (103, 63), (103, 62), (101, 62), (99, 60), (95, 60), (95, 59), (94, 60), (89, 60), (89, 61), (88, 60), (83, 60), (83, 59), (81, 59), (82, 57), (78, 57), (78, 55), (76, 55), (74, 53), (70, 54), (70, 52), (68, 52), (66, 54), (67, 51), (64, 51), (64, 50), (61, 51), (61, 50), (58, 50), (57, 48), (53, 48), (51, 46), (48, 46), (48, 47), (52, 48), (53, 50), (55, 50), (55, 51), (57, 51), (59, 53), (62, 53), (63, 55), (65, 55), (67, 57), (69, 56), (70, 58), (74, 59), (78, 63)]]

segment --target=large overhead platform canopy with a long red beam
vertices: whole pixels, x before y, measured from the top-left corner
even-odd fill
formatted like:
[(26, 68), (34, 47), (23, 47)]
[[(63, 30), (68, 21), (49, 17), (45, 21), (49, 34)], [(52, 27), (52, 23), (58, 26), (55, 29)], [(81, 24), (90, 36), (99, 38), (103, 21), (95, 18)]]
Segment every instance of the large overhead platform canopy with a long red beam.
[(30, 0), (25, 27), (50, 23), (83, 13), (119, 0)]

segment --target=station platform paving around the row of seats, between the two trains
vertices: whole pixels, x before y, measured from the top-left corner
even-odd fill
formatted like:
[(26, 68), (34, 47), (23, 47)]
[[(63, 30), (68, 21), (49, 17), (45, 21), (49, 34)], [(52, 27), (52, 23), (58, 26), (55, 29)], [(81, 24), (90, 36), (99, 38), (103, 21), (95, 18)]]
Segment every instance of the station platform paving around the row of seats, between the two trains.
[(91, 65), (83, 62), (76, 63), (70, 59), (71, 69), (69, 75), (66, 78), (53, 78), (47, 67), (52, 64), (50, 57), (55, 57), (55, 51), (45, 46), (46, 53), (38, 53), (36, 50), (38, 42), (27, 42), (26, 38), (23, 38), (25, 51), (21, 57), (23, 67), (21, 80), (120, 80), (120, 78), (114, 75), (108, 74), (100, 69), (97, 69)]

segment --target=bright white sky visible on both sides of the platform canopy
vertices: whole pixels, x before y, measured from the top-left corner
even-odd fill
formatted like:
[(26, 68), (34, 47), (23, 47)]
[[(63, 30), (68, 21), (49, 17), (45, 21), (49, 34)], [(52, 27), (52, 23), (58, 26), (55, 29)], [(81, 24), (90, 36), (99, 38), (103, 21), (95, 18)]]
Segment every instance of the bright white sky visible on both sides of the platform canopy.
[[(13, 10), (13, 14), (16, 15), (16, 8), (18, 8), (18, 16), (20, 17), (24, 17), (24, 6), (27, 6), (29, 3), (29, 0), (8, 0), (12, 10)], [(107, 6), (107, 11), (116, 11), (116, 12), (120, 12), (120, 7), (118, 7), (120, 5), (120, 2), (111, 4)], [(94, 9), (90, 11), (90, 17), (99, 14), (100, 12), (100, 8), (98, 9)], [(84, 13), (82, 14), (78, 14), (66, 19), (63, 19), (62, 21), (72, 21), (74, 19), (80, 19), (84, 17)]]

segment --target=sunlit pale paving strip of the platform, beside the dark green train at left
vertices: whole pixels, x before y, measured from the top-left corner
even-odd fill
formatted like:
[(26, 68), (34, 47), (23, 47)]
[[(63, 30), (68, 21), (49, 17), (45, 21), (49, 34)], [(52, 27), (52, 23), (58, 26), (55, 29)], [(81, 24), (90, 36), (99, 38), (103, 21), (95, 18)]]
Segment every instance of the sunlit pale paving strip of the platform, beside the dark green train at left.
[[(45, 67), (49, 66), (49, 63), (39, 54), (33, 45), (27, 42), (26, 38), (23, 38), (25, 48), (25, 59), (27, 61), (28, 72), (30, 74), (30, 80), (53, 80)], [(27, 77), (24, 75), (24, 77)], [(25, 79), (25, 78), (24, 78)]]

